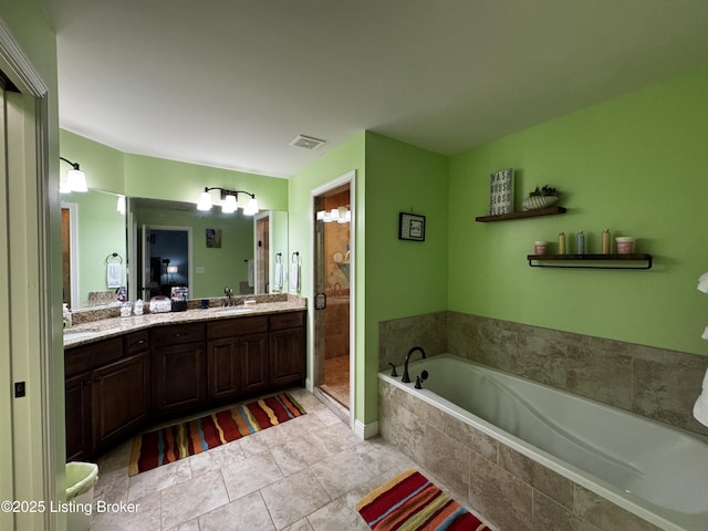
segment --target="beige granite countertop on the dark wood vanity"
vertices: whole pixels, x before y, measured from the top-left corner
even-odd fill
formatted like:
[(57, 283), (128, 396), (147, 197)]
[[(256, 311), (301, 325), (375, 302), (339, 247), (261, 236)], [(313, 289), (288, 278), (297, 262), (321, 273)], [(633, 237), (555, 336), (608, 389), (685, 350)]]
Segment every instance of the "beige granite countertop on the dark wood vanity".
[(64, 347), (83, 345), (94, 341), (122, 335), (138, 330), (176, 323), (194, 323), (217, 319), (238, 319), (269, 313), (306, 310), (306, 299), (288, 295), (284, 300), (266, 300), (256, 304), (239, 304), (230, 308), (186, 310), (184, 312), (145, 313), (129, 317), (107, 317), (76, 324), (64, 330)]

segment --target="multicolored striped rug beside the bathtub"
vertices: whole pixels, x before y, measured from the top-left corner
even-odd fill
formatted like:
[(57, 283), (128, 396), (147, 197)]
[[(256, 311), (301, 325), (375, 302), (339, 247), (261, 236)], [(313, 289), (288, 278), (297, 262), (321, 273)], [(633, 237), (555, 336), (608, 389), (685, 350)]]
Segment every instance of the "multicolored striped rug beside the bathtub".
[(417, 470), (407, 470), (371, 491), (356, 510), (375, 531), (481, 531), (477, 517)]

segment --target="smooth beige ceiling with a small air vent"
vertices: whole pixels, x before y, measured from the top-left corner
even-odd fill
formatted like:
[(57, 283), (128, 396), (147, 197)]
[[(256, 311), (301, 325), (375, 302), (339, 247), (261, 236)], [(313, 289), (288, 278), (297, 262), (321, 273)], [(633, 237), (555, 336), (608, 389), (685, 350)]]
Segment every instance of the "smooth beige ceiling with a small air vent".
[(43, 2), (63, 128), (282, 177), (362, 129), (451, 155), (708, 65), (706, 0)]

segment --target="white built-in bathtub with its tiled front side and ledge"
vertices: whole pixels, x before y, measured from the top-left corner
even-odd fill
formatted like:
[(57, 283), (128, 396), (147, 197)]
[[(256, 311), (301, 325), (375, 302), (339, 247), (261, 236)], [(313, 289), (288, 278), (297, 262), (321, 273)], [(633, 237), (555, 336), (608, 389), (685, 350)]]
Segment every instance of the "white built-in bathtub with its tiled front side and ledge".
[(409, 368), (424, 389), (381, 373), (382, 435), (498, 529), (708, 529), (700, 436), (458, 356)]

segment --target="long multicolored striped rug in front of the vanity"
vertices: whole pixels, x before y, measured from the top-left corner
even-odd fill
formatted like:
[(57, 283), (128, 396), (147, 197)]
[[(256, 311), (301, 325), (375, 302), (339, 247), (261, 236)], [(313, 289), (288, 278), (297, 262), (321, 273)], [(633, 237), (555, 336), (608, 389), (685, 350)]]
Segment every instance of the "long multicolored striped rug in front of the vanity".
[(282, 424), (306, 412), (289, 393), (176, 424), (133, 440), (128, 476), (201, 454), (247, 435)]

